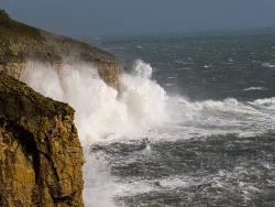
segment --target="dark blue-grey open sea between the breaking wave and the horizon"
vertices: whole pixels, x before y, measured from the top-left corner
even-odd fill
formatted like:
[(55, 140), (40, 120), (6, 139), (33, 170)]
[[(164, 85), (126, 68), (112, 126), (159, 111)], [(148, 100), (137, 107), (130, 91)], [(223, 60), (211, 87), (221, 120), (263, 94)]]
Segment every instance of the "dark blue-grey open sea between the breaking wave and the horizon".
[[(150, 63), (162, 86), (191, 99), (254, 99), (275, 92), (273, 30), (121, 37), (101, 45), (127, 66), (135, 58)], [(266, 90), (243, 90), (250, 87)]]

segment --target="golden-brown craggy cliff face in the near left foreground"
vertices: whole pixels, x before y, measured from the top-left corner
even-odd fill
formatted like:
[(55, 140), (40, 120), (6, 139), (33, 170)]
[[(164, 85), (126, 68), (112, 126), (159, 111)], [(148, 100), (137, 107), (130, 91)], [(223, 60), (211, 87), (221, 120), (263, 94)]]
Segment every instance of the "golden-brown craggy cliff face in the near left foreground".
[(0, 206), (84, 206), (73, 120), (68, 105), (0, 72)]

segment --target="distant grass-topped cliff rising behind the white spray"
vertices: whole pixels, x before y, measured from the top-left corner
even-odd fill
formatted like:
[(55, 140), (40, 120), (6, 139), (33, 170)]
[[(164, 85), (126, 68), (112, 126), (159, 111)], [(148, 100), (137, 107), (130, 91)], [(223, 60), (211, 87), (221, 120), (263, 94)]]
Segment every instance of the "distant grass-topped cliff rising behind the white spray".
[(116, 56), (105, 51), (25, 25), (0, 10), (0, 69), (19, 78), (28, 59), (50, 63), (57, 69), (65, 62), (85, 62), (95, 65), (100, 77), (114, 88), (123, 70)]

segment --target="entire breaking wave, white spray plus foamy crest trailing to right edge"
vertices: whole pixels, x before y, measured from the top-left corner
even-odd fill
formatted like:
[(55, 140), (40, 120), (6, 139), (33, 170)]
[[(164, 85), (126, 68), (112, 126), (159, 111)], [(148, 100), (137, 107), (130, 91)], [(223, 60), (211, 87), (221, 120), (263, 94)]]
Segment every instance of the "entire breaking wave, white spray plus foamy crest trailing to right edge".
[[(85, 63), (64, 65), (56, 70), (29, 62), (21, 74), (20, 79), (36, 91), (75, 108), (75, 123), (87, 161), (84, 198), (88, 206), (113, 207), (113, 197), (127, 190), (118, 187), (106, 160), (89, 153), (87, 146), (92, 143), (224, 133), (248, 135), (274, 128), (275, 97), (253, 101), (234, 98), (190, 101), (187, 97), (167, 95), (151, 79), (152, 72), (150, 64), (136, 61), (132, 73), (120, 77), (120, 94), (99, 78), (95, 67)], [(162, 185), (165, 186), (164, 181)], [(154, 188), (148, 185), (146, 190)]]

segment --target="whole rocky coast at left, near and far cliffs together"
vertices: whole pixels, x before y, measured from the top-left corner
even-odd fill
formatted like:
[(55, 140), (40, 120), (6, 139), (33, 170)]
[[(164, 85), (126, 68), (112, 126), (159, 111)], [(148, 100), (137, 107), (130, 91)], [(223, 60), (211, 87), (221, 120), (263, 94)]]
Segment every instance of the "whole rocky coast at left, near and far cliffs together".
[(18, 80), (28, 61), (55, 69), (86, 63), (113, 88), (122, 65), (100, 48), (29, 26), (0, 10), (0, 206), (81, 207), (85, 160), (75, 111)]

